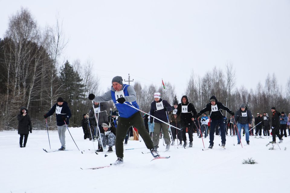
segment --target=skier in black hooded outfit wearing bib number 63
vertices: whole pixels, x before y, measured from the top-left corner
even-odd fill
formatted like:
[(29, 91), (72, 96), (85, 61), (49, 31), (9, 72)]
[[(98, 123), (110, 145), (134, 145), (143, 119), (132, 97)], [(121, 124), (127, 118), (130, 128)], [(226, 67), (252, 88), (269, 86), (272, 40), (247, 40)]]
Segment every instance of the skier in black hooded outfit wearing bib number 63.
[(189, 138), (189, 147), (192, 147), (192, 134), (193, 134), (193, 123), (194, 117), (196, 116), (196, 110), (192, 103), (188, 102), (188, 98), (186, 95), (182, 96), (181, 103), (177, 106), (177, 112), (176, 115), (174, 115), (175, 118), (180, 116), (180, 122), (181, 122), (181, 132), (182, 132), (182, 140), (183, 140), (183, 146), (185, 147), (187, 145), (186, 143), (186, 128), (188, 130), (188, 138)]

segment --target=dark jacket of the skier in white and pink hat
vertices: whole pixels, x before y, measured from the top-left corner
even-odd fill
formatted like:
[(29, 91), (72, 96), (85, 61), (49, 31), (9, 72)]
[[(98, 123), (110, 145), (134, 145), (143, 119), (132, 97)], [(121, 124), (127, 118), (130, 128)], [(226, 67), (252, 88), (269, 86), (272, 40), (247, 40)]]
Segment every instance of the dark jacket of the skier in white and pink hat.
[[(161, 101), (163, 103), (163, 108), (160, 109), (160, 110), (157, 110), (156, 105), (160, 105)], [(158, 119), (160, 119), (160, 120), (162, 120), (164, 122), (168, 122), (168, 120), (167, 120), (167, 111), (164, 111), (165, 107), (167, 108), (167, 111), (171, 111), (171, 106), (167, 102), (167, 100), (163, 100), (163, 99), (160, 98), (158, 102), (153, 101), (151, 103), (150, 115), (152, 115), (152, 116), (154, 116), (154, 117), (156, 117), (156, 118), (158, 118)], [(150, 120), (153, 120), (152, 116), (150, 116)], [(154, 122), (155, 123), (161, 123), (161, 121), (159, 121), (157, 119), (154, 119)]]

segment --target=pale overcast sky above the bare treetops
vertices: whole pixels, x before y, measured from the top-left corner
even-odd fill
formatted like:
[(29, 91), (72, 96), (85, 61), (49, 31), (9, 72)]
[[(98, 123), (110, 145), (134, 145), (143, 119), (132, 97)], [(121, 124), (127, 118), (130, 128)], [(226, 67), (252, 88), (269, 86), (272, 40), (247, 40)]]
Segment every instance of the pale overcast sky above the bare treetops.
[[(280, 85), (290, 77), (290, 1), (1, 1), (0, 37), (9, 16), (28, 8), (40, 27), (56, 13), (69, 39), (63, 58), (94, 63), (104, 91), (120, 75), (143, 85), (161, 78), (185, 93), (191, 70), (203, 76), (232, 62), (237, 87)], [(166, 86), (166, 85), (165, 85)]]

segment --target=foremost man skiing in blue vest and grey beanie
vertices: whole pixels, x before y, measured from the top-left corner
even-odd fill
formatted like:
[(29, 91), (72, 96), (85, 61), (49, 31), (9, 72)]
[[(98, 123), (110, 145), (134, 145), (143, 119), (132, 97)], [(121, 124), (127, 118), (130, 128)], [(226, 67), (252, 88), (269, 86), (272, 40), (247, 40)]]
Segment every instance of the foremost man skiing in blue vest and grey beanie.
[[(132, 86), (123, 84), (123, 79), (121, 76), (115, 76), (112, 79), (111, 90), (107, 91), (102, 96), (89, 94), (89, 100), (93, 100), (94, 102), (98, 103), (113, 100), (119, 111), (120, 116), (118, 118), (118, 128), (115, 142), (116, 155), (118, 160), (114, 163), (114, 165), (123, 163), (123, 141), (126, 137), (128, 129), (131, 126), (137, 128), (140, 136), (145, 142), (146, 147), (150, 149), (152, 156), (160, 156), (154, 149), (152, 139), (149, 133), (146, 131), (143, 117), (137, 110), (139, 109), (139, 106), (136, 102), (136, 92)], [(132, 106), (137, 109), (134, 109)]]

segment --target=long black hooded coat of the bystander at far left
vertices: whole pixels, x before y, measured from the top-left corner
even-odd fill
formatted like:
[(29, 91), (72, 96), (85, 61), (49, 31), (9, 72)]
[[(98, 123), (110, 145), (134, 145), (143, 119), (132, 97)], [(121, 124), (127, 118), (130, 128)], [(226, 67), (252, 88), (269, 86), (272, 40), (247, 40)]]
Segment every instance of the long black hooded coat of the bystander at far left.
[[(22, 110), (26, 110), (26, 115), (23, 116)], [(21, 107), (20, 113), (17, 115), (18, 119), (18, 134), (29, 134), (29, 131), (32, 132), (32, 124), (28, 111), (25, 107)]]

